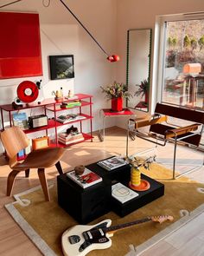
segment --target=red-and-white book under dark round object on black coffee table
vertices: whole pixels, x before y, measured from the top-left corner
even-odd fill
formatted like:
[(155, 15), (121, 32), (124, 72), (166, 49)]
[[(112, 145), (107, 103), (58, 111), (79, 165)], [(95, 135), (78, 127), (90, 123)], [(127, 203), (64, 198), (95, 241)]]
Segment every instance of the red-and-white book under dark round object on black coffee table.
[(80, 187), (86, 188), (91, 187), (94, 184), (97, 184), (102, 180), (102, 178), (98, 175), (93, 173), (91, 170), (85, 167), (85, 171), (81, 175), (76, 175), (75, 171), (67, 173), (67, 177), (76, 182)]

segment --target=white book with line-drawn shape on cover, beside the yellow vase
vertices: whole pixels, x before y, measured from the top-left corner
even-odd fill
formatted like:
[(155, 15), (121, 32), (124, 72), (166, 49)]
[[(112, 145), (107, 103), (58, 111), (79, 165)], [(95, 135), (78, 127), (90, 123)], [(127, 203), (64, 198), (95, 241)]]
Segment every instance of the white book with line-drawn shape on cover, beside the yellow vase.
[(112, 197), (124, 204), (125, 202), (136, 198), (139, 194), (122, 183), (112, 185)]

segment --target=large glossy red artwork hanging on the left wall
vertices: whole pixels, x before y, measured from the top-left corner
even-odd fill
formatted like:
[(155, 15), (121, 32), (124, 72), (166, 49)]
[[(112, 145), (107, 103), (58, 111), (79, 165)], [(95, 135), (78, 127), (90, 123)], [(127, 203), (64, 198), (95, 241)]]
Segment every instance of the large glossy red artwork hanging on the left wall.
[(39, 15), (0, 12), (0, 79), (42, 75)]

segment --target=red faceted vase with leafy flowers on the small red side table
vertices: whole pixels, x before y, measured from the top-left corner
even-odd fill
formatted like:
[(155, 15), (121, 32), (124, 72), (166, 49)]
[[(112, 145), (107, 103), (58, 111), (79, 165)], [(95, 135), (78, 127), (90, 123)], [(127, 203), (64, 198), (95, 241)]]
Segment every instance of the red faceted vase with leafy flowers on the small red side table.
[(129, 99), (131, 94), (127, 90), (127, 86), (122, 82), (113, 82), (106, 88), (100, 86), (102, 92), (108, 100), (112, 100), (112, 111), (121, 111), (123, 109), (123, 98)]

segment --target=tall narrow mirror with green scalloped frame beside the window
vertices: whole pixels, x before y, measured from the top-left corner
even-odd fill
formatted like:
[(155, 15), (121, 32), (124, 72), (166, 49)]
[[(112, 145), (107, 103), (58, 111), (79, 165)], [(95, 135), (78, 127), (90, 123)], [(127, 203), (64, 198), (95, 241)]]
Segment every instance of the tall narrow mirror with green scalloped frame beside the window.
[(151, 30), (128, 30), (127, 78), (128, 91), (133, 96), (128, 108), (148, 112), (150, 95)]

